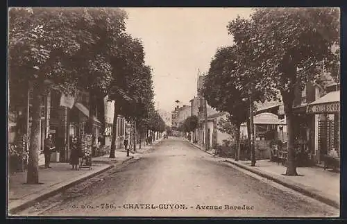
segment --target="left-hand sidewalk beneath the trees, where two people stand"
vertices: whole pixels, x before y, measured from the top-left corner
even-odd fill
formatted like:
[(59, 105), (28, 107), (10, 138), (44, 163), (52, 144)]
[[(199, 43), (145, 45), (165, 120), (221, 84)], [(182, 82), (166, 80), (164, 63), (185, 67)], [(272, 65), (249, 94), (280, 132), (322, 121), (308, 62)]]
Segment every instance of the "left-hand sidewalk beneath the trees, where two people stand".
[(19, 212), (26, 207), (53, 196), (58, 191), (71, 187), (87, 178), (92, 178), (117, 164), (133, 157), (126, 157), (125, 152), (117, 152), (115, 159), (109, 155), (92, 158), (92, 170), (74, 171), (69, 163), (51, 163), (51, 169), (39, 168), (40, 184), (26, 184), (26, 171), (8, 175), (8, 211)]

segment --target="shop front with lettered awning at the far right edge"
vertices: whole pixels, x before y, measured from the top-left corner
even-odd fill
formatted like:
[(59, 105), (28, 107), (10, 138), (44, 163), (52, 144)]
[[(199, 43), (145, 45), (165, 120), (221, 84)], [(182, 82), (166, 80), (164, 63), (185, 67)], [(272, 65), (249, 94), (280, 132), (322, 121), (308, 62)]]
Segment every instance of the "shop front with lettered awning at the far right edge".
[(307, 105), (307, 114), (314, 114), (316, 122), (315, 160), (325, 168), (339, 168), (340, 164), (340, 92), (330, 92)]

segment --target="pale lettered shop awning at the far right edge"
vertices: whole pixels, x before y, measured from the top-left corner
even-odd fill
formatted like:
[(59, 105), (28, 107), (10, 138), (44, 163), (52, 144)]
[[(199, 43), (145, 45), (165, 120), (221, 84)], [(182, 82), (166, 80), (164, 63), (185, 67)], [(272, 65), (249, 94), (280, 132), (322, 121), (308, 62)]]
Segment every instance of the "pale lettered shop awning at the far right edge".
[(309, 103), (307, 114), (336, 113), (340, 111), (340, 91), (330, 92), (318, 100)]

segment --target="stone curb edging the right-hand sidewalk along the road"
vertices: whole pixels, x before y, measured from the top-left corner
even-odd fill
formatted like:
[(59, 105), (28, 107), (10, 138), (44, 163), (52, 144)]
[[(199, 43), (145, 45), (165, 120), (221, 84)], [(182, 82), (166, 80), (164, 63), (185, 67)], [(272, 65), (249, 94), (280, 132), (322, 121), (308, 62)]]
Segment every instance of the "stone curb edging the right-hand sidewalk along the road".
[(269, 174), (264, 173), (262, 171), (257, 171), (255, 169), (249, 168), (246, 165), (232, 162), (229, 160), (223, 160), (223, 162), (228, 162), (230, 164), (238, 166), (238, 167), (245, 169), (247, 171), (251, 171), (252, 173), (260, 175), (262, 178), (272, 180), (273, 182), (276, 182), (278, 184), (282, 184), (283, 186), (288, 187), (289, 189), (292, 189), (294, 191), (298, 191), (299, 193), (303, 193), (305, 196), (309, 196), (310, 198), (314, 198), (316, 200), (319, 200), (321, 203), (325, 203), (325, 204), (330, 205), (332, 207), (335, 207), (337, 209), (340, 208), (339, 203), (337, 203), (335, 200), (321, 196), (319, 193), (315, 193), (315, 192), (312, 192), (308, 189), (305, 189), (305, 187), (301, 187), (301, 186), (298, 186), (297, 184), (290, 183), (291, 182), (290, 180), (289, 181), (280, 180), (279, 178), (273, 177), (272, 175), (269, 175)]

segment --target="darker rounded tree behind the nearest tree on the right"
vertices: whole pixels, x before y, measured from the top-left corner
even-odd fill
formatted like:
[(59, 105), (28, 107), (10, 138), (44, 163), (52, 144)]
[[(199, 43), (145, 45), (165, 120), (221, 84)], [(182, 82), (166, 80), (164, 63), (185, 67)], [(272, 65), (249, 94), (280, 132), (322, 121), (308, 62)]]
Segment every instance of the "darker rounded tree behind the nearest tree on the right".
[(256, 80), (252, 80), (253, 67), (247, 62), (246, 56), (239, 51), (237, 45), (218, 49), (210, 63), (202, 89), (208, 104), (219, 111), (228, 112), (229, 121), (232, 121), (232, 126), (236, 127), (235, 160), (239, 160), (241, 123), (246, 121), (249, 114), (249, 102), (245, 99), (252, 94), (255, 100), (265, 100), (262, 94), (264, 89), (253, 88), (251, 93), (249, 91), (250, 84)]

